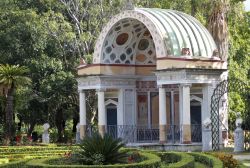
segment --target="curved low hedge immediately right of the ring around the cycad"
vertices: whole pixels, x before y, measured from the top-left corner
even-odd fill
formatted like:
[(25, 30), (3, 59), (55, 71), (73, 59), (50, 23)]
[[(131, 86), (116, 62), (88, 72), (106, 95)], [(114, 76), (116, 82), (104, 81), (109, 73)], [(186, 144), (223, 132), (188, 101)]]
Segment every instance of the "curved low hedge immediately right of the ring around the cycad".
[[(181, 152), (160, 152), (162, 168), (193, 168), (194, 157)], [(165, 164), (164, 164), (165, 163)]]

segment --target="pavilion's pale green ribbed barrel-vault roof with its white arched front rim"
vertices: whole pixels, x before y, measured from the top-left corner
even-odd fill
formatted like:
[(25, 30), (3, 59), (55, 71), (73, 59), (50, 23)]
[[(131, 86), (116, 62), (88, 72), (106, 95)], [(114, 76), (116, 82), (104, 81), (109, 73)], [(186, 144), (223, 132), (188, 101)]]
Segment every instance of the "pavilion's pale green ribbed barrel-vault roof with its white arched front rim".
[(105, 39), (110, 30), (124, 19), (137, 20), (145, 25), (152, 36), (156, 58), (167, 56), (211, 58), (216, 49), (210, 33), (192, 16), (174, 10), (136, 8), (114, 16), (103, 28), (95, 45), (94, 64), (104, 63), (102, 51)]

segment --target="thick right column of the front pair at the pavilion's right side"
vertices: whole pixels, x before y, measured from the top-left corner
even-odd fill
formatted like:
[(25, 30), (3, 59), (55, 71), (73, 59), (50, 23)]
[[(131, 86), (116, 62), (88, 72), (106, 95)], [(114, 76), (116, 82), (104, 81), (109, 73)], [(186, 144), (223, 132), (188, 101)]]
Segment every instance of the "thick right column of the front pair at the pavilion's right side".
[(191, 143), (190, 121), (190, 87), (191, 84), (180, 85), (180, 141), (183, 144)]

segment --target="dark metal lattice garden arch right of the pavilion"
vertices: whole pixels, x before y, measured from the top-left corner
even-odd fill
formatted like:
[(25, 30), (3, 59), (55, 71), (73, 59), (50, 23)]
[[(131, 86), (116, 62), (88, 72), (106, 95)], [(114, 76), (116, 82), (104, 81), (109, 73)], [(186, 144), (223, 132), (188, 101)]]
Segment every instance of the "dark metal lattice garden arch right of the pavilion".
[[(212, 123), (212, 149), (214, 151), (219, 150), (219, 134), (220, 134), (220, 116), (219, 116), (219, 107), (220, 100), (222, 96), (229, 92), (238, 92), (242, 95), (245, 102), (249, 102), (250, 100), (250, 88), (246, 83), (239, 79), (228, 79), (220, 82), (216, 88), (214, 89), (213, 95), (211, 96), (211, 123)], [(249, 103), (246, 103), (246, 109), (249, 110)], [(246, 111), (247, 112), (247, 111)], [(248, 113), (245, 113), (248, 114)], [(249, 115), (249, 114), (248, 114)], [(247, 116), (245, 116), (247, 117)], [(249, 117), (249, 116), (248, 116)]]

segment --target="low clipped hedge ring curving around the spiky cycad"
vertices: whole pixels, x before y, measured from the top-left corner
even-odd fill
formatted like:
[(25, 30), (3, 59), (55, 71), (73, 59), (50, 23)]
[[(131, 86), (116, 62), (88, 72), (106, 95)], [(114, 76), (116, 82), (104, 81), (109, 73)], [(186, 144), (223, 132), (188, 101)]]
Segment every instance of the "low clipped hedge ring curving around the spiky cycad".
[(47, 158), (47, 159), (38, 159), (32, 160), (26, 163), (27, 167), (36, 167), (36, 168), (49, 168), (49, 167), (60, 167), (60, 168), (159, 168), (161, 164), (161, 158), (152, 153), (142, 153), (139, 152), (146, 160), (139, 163), (131, 164), (114, 164), (114, 165), (49, 165), (48, 162), (57, 158)]

